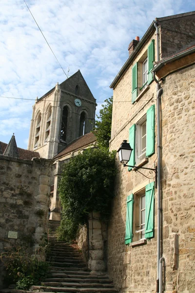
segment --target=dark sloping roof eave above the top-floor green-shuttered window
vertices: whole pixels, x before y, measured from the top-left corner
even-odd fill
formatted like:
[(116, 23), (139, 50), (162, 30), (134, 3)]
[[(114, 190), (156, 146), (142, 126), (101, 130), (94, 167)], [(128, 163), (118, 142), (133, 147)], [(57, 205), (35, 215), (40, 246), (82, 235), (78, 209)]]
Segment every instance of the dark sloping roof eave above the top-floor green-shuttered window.
[(123, 75), (123, 73), (125, 72), (125, 70), (127, 69), (127, 67), (130, 65), (130, 63), (133, 61), (133, 59), (135, 58), (135, 56), (137, 55), (137, 53), (141, 49), (141, 47), (144, 44), (144, 42), (150, 36), (150, 34), (152, 33), (152, 31), (155, 30), (154, 23), (155, 23), (155, 21), (153, 21), (151, 23), (151, 25), (149, 26), (148, 30), (144, 34), (144, 36), (141, 38), (140, 42), (138, 42), (135, 50), (133, 51), (133, 53), (131, 54), (131, 56), (127, 59), (127, 61), (124, 63), (124, 65), (122, 66), (122, 68), (120, 69), (120, 71), (118, 72), (118, 74), (115, 77), (114, 81), (110, 85), (110, 88), (115, 87), (115, 85), (117, 84), (118, 80), (121, 78), (121, 76)]

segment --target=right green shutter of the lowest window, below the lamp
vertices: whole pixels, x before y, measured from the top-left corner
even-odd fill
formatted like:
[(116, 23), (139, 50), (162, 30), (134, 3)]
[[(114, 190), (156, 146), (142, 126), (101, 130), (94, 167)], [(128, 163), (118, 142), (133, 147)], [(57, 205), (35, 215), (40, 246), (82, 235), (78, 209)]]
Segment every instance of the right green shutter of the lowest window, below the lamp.
[(155, 182), (146, 185), (145, 238), (154, 237)]

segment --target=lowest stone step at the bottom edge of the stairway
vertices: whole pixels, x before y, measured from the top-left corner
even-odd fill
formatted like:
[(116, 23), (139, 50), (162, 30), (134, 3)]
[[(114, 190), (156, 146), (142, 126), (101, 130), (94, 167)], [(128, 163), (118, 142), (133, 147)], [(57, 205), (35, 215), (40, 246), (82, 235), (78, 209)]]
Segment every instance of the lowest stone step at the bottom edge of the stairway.
[[(117, 290), (114, 288), (73, 288), (73, 287), (43, 287), (43, 286), (32, 286), (31, 288), (32, 292), (86, 292), (86, 293), (116, 293)], [(49, 290), (48, 290), (49, 289)], [(48, 291), (47, 291), (48, 290)]]

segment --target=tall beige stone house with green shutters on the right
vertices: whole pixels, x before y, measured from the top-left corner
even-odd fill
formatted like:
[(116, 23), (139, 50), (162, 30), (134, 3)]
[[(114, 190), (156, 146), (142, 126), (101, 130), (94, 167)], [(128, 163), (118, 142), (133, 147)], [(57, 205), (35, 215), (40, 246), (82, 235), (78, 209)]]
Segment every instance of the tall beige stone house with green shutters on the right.
[[(149, 168), (158, 162), (158, 139), (161, 149), (159, 190), (155, 174), (138, 169), (151, 179), (146, 178), (116, 160), (107, 265), (120, 292), (195, 290), (195, 31), (189, 31), (189, 23), (195, 29), (195, 12), (153, 21), (140, 42), (133, 42), (137, 45), (111, 84), (115, 103), (110, 149), (127, 140), (134, 149), (129, 165)], [(164, 257), (162, 291), (157, 227)]]

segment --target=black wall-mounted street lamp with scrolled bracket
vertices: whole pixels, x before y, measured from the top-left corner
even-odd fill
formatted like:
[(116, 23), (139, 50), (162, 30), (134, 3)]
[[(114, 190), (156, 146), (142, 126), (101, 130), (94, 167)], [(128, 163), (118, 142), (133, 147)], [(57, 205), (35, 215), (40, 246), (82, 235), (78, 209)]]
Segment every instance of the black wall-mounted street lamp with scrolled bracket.
[[(137, 171), (139, 173), (141, 173), (141, 172), (138, 171), (138, 169), (150, 170), (150, 174), (152, 174), (152, 172), (155, 172), (155, 181), (157, 182), (157, 166), (155, 168), (145, 168), (145, 167), (127, 165), (127, 163), (130, 160), (132, 150), (133, 150), (133, 148), (131, 148), (130, 144), (127, 143), (126, 140), (124, 140), (122, 142), (122, 144), (120, 145), (119, 149), (117, 150), (120, 163), (122, 163), (123, 167), (131, 167), (131, 168), (133, 168), (135, 171)], [(144, 175), (143, 173), (141, 173), (141, 174)], [(146, 178), (149, 178), (146, 175), (144, 175), (144, 176)], [(152, 178), (149, 178), (149, 179), (152, 179)]]

